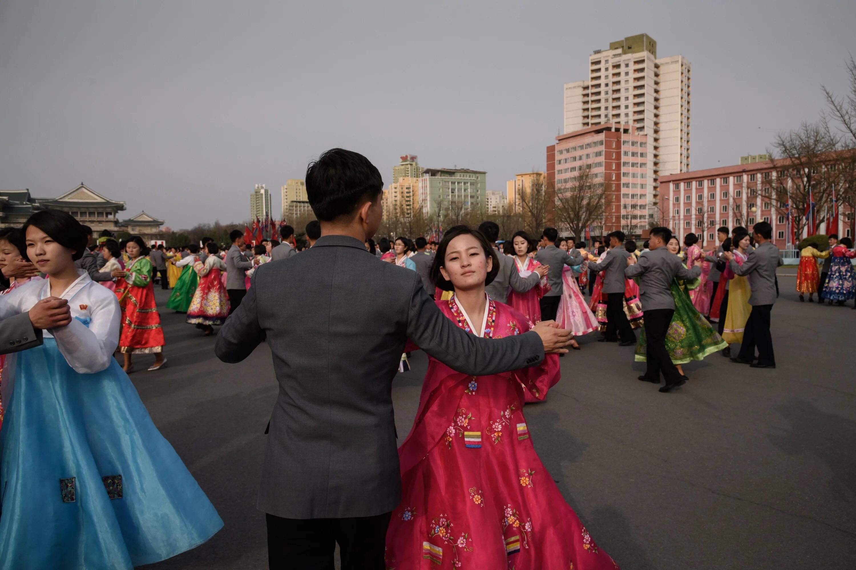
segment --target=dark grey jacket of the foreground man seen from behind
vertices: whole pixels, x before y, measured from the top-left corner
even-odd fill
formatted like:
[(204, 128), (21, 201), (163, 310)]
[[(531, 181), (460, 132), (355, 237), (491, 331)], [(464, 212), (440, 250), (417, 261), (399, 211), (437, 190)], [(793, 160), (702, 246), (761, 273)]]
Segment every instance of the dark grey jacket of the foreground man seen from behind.
[(258, 507), (292, 519), (388, 513), (401, 500), (391, 385), (407, 338), (467, 375), (531, 366), (538, 334), (477, 338), (449, 320), (413, 271), (379, 261), (360, 240), (322, 236), (265, 263), (217, 334), (241, 361), (262, 342), (279, 395), (270, 416)]

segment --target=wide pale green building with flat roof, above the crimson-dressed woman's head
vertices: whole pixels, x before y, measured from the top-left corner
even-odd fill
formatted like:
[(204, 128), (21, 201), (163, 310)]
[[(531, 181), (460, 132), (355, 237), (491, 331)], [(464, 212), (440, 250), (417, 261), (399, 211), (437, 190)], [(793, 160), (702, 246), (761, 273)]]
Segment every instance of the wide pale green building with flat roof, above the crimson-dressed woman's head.
[(425, 216), (449, 209), (484, 209), (487, 173), (468, 168), (425, 168), (419, 179), (419, 206)]

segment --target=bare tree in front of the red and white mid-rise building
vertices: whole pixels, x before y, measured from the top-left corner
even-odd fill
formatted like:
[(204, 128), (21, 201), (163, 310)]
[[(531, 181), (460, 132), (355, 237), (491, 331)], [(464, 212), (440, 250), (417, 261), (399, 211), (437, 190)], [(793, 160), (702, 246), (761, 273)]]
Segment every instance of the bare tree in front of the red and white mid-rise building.
[(556, 220), (575, 238), (586, 235), (586, 227), (603, 221), (606, 194), (591, 168), (580, 166), (568, 184), (556, 187)]

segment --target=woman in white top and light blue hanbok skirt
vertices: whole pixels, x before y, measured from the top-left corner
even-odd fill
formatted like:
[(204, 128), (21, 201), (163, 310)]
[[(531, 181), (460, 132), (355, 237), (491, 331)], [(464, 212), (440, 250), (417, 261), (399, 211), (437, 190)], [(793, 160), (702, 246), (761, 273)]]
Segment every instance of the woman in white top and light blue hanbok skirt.
[(0, 568), (131, 568), (204, 543), (223, 521), (113, 359), (119, 303), (74, 267), (86, 234), (57, 210), (22, 233), (50, 277), (0, 297), (0, 318), (45, 297), (74, 318), (6, 359)]

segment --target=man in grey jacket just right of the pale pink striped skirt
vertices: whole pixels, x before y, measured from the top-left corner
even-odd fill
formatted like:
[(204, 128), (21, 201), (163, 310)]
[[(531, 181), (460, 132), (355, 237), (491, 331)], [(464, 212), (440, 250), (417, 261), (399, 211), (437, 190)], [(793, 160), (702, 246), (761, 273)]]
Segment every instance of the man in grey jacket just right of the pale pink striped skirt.
[[(615, 343), (621, 338), (620, 346), (631, 346), (636, 344), (636, 334), (627, 314), (624, 312), (624, 269), (627, 267), (627, 259), (632, 254), (625, 250), (624, 232), (616, 231), (607, 236), (609, 250), (607, 250), (597, 263), (589, 261), (589, 269), (592, 271), (603, 271), (603, 294), (606, 295), (606, 331), (597, 342)], [(649, 240), (651, 241), (651, 240)], [(667, 240), (668, 241), (668, 240)], [(651, 246), (653, 250), (653, 246)], [(648, 254), (645, 254), (647, 257)]]

